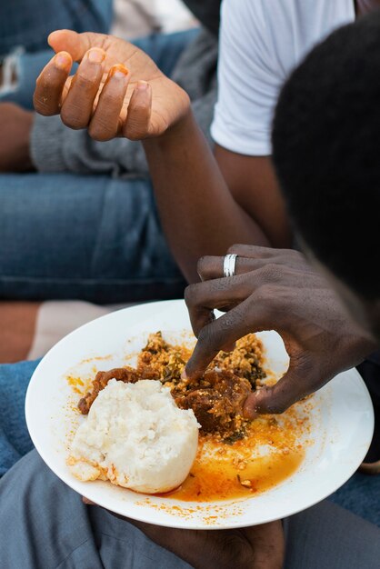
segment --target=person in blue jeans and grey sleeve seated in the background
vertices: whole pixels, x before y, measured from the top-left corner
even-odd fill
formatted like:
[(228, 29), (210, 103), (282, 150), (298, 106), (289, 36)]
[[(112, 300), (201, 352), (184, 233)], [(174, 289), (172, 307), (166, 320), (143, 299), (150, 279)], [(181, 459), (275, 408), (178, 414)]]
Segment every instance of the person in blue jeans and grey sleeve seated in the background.
[[(183, 85), (211, 143), (220, 0), (187, 4), (200, 18), (200, 29), (134, 43)], [(98, 29), (87, 27), (93, 28)], [(31, 56), (29, 80), (0, 100), (25, 106), (27, 99), (31, 107), (35, 78), (50, 56), (47, 52), (43, 63)], [(22, 73), (23, 57), (18, 60)], [(6, 244), (0, 252), (0, 298), (111, 304), (183, 294), (185, 280), (162, 234), (139, 142), (120, 137), (99, 144), (85, 130), (67, 129), (59, 116), (36, 115), (5, 102), (0, 121), (0, 170), (5, 172), (0, 195), (6, 212), (0, 224), (0, 241)], [(10, 139), (5, 132), (14, 135)], [(79, 218), (80, 223), (71, 223)]]

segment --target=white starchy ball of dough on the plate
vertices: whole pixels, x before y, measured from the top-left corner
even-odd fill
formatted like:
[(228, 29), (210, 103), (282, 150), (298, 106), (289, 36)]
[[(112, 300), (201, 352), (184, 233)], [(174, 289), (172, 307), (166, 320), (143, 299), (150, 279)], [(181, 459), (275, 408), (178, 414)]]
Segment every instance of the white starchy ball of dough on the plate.
[(190, 472), (198, 428), (194, 412), (179, 409), (161, 382), (112, 379), (79, 426), (67, 464), (80, 480), (169, 492)]

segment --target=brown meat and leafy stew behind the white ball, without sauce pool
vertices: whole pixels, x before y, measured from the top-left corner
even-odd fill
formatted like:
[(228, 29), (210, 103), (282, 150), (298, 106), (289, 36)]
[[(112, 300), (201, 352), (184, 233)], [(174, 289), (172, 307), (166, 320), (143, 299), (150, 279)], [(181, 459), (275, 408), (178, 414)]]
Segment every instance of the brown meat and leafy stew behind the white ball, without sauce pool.
[(190, 350), (184, 345), (168, 344), (160, 332), (150, 334), (138, 354), (136, 369), (125, 366), (98, 372), (91, 392), (80, 400), (78, 407), (82, 414), (87, 414), (112, 378), (126, 383), (154, 379), (170, 387), (178, 407), (193, 409), (204, 433), (217, 433), (224, 438), (243, 436), (243, 404), (265, 377), (262, 351), (255, 334), (247, 334), (236, 343), (232, 353), (220, 352), (204, 375), (189, 381), (182, 379), (181, 374)]

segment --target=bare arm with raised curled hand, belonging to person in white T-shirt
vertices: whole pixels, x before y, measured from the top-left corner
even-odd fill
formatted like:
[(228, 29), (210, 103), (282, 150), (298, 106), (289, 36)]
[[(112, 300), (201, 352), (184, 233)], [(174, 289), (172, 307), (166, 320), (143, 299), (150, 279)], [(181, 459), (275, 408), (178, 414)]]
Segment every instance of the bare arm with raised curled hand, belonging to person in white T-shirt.
[[(288, 245), (269, 159), (217, 148), (221, 171), (185, 91), (147, 55), (112, 36), (67, 30), (49, 43), (58, 55), (37, 79), (35, 109), (60, 114), (65, 125), (87, 128), (96, 140), (144, 141), (165, 235), (189, 282), (198, 280), (200, 255), (222, 255), (236, 241)], [(95, 54), (99, 61), (91, 62)], [(74, 81), (73, 60), (81, 62)]]

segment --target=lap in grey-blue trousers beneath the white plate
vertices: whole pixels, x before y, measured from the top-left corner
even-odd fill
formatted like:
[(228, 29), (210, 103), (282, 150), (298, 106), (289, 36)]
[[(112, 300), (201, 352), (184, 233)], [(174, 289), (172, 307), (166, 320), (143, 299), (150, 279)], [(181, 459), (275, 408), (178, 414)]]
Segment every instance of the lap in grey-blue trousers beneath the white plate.
[[(185, 569), (134, 526), (63, 484), (33, 451), (0, 482), (5, 566)], [(285, 520), (285, 569), (377, 569), (380, 529), (327, 502)], [(16, 536), (10, 539), (9, 536)]]

